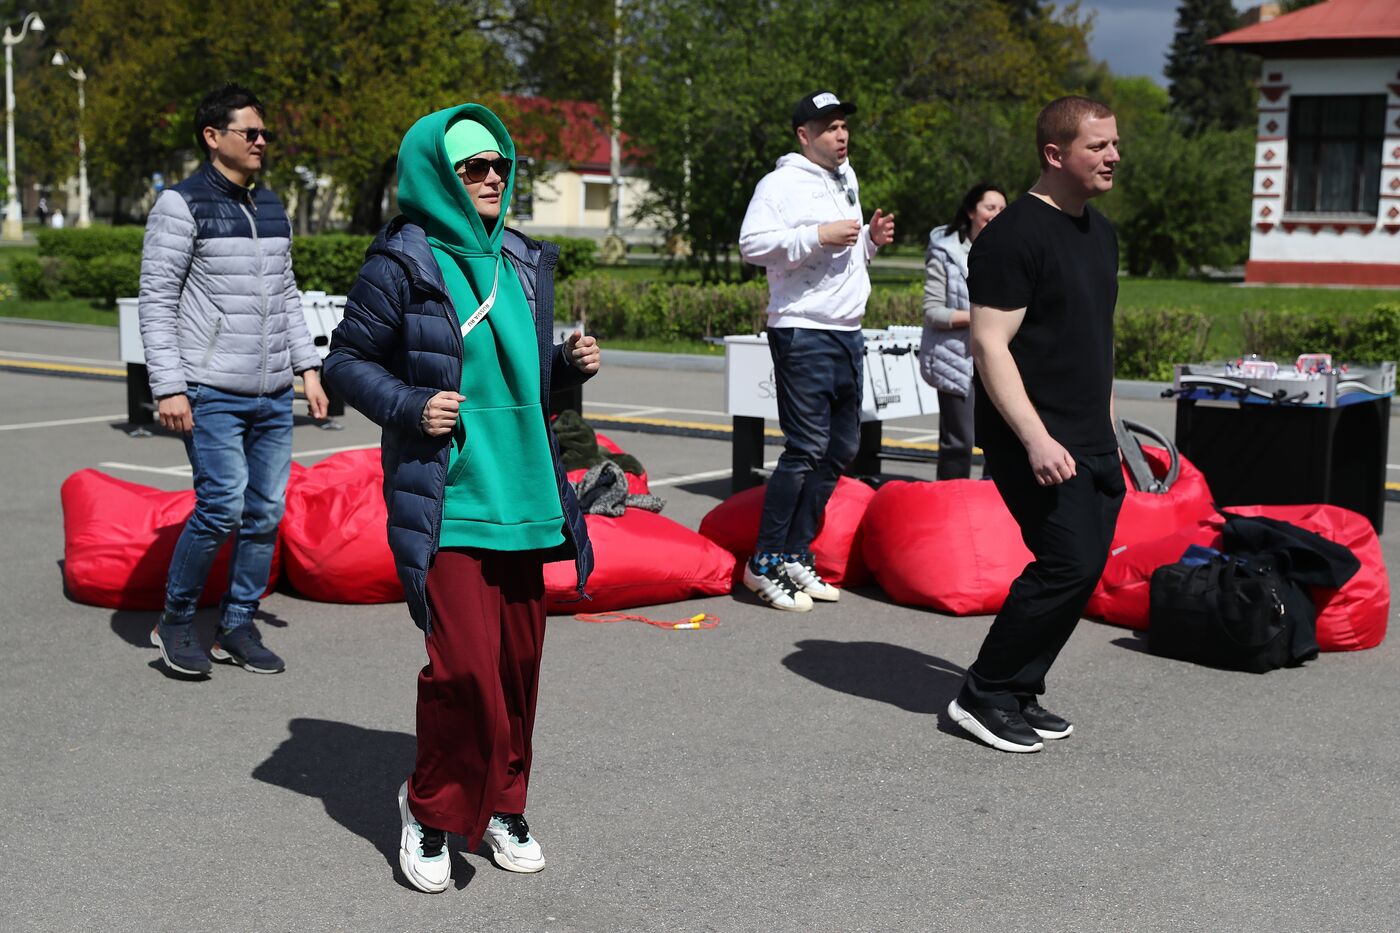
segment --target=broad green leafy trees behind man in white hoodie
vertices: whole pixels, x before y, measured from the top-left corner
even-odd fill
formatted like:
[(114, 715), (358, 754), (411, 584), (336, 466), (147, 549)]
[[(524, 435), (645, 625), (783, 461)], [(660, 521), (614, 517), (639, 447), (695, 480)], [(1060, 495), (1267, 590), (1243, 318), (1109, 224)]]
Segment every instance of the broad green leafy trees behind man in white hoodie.
[(637, 0), (626, 32), (623, 130), (645, 207), (689, 237), (707, 279), (741, 275), (729, 256), (745, 207), (795, 148), (802, 94), (855, 101), (862, 207), (893, 209), (900, 237), (923, 242), (979, 179), (1028, 185), (1035, 113), (1096, 74), (1088, 21), (1035, 3)]

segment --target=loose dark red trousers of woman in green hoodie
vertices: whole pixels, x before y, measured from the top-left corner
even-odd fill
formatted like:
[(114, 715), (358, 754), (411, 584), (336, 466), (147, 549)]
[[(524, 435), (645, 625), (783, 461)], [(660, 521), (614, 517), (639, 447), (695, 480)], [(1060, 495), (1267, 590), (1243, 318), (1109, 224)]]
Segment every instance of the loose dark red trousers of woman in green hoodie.
[(493, 813), (525, 813), (545, 565), (539, 552), (438, 551), (409, 807), (475, 848)]

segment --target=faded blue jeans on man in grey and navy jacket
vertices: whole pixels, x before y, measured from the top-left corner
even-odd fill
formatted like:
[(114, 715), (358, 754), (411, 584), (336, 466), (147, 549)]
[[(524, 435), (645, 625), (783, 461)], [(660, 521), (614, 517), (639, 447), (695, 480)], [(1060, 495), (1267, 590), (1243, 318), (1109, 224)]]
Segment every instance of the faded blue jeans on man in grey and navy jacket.
[(185, 452), (195, 469), (195, 513), (185, 523), (165, 581), (165, 618), (188, 622), (209, 567), (235, 531), (223, 628), (251, 622), (272, 570), (291, 474), (291, 389), (234, 395), (190, 385), (195, 430)]

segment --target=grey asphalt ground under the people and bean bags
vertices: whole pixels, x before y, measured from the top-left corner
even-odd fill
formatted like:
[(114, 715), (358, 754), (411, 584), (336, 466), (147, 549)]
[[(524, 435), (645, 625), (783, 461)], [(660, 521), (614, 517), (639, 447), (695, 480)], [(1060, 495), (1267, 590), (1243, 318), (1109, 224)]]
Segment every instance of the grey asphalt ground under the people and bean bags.
[[(115, 332), (0, 324), (14, 353), (111, 360)], [(1170, 430), (1169, 403), (1120, 405)], [(585, 412), (657, 408), (637, 417), (718, 413), (722, 378), (605, 356)], [(454, 841), (455, 887), (419, 894), (396, 869), (424, 661), (402, 605), (274, 593), (259, 622), (287, 672), (186, 682), (154, 614), (64, 595), (69, 474), (189, 482), (179, 441), (127, 437), (123, 412), (118, 382), (0, 373), (6, 930), (1400, 929), (1393, 642), (1259, 677), (1085, 622), (1046, 698), (1075, 734), (1005, 755), (944, 712), (990, 619), (874, 587), (801, 616), (746, 595), (651, 612), (721, 619), (703, 632), (553, 616), (528, 808), (549, 867)], [(301, 423), (298, 459), (375, 443), (342, 423)], [(608, 433), (664, 514), (696, 527), (728, 495), (724, 440)]]

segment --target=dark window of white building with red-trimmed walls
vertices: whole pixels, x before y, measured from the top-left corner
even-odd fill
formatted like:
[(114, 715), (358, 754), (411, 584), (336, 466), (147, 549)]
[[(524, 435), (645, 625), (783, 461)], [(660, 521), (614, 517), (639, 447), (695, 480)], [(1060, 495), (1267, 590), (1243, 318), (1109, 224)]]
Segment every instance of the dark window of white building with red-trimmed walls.
[(1295, 95), (1288, 116), (1285, 210), (1375, 217), (1385, 125), (1385, 94)]

